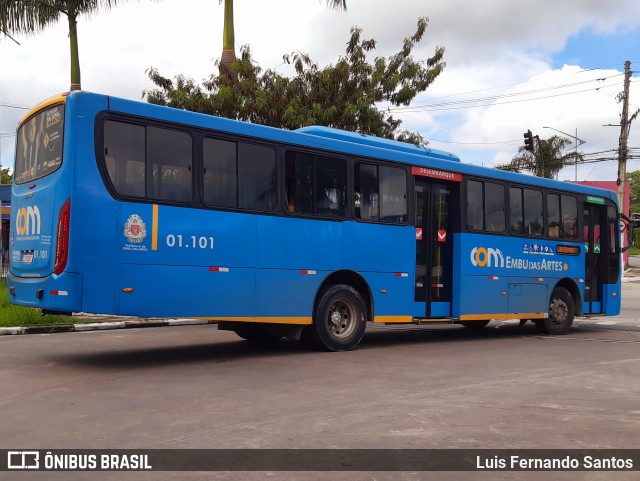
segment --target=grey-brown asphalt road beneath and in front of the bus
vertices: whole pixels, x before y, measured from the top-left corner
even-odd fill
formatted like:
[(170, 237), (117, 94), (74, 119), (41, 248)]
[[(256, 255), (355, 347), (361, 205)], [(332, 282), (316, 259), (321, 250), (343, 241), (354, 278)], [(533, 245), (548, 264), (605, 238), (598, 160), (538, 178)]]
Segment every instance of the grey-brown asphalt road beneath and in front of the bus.
[[(591, 322), (591, 321), (589, 321)], [(374, 327), (347, 353), (215, 326), (0, 336), (0, 449), (640, 448), (640, 332)], [(638, 479), (636, 473), (0, 473), (6, 479)], [(518, 476), (514, 476), (518, 475)], [(635, 476), (635, 477), (634, 477)]]

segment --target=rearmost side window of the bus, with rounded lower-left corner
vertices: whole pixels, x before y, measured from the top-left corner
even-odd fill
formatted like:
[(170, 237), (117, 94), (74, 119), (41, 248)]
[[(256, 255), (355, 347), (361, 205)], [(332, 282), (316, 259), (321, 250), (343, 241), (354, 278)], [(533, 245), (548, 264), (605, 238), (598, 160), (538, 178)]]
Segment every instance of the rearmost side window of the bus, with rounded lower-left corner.
[(104, 123), (104, 157), (111, 184), (125, 197), (144, 198), (145, 128), (107, 120)]

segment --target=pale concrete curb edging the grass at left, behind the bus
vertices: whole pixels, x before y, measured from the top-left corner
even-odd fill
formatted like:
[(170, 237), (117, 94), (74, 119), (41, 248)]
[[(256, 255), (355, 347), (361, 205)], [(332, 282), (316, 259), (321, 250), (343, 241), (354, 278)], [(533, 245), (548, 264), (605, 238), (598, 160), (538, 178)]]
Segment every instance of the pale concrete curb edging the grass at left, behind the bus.
[(112, 329), (139, 329), (144, 327), (190, 326), (215, 324), (216, 321), (199, 319), (166, 319), (153, 321), (91, 322), (87, 324), (59, 324), (56, 326), (0, 327), (0, 336), (18, 334), (54, 334), (58, 332), (89, 332)]

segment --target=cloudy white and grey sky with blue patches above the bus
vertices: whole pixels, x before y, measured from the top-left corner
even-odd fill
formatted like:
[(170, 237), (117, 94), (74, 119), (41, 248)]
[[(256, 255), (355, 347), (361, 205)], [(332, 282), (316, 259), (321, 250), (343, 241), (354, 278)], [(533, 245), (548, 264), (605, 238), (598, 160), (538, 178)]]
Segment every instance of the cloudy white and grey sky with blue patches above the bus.
[[(249, 44), (263, 68), (303, 51), (320, 65), (344, 53), (350, 28), (378, 42), (375, 55), (396, 52), (419, 17), (430, 19), (418, 59), (445, 47), (447, 67), (412, 107), (394, 112), (403, 128), (430, 146), (487, 166), (508, 162), (523, 132), (548, 138), (544, 126), (586, 141), (583, 153), (618, 147), (625, 60), (640, 71), (638, 0), (347, 0), (348, 11), (319, 0), (235, 0), (236, 49)], [(223, 7), (217, 0), (140, 0), (81, 17), (82, 87), (141, 100), (153, 85), (145, 70), (198, 81), (214, 72), (222, 50)], [(13, 163), (15, 127), (26, 110), (69, 88), (67, 23), (30, 37), (0, 34), (0, 161)], [(631, 82), (630, 114), (640, 108), (640, 75)], [(479, 100), (482, 99), (482, 100)], [(473, 100), (473, 101), (471, 101)], [(640, 147), (640, 121), (630, 147)], [(570, 150), (572, 146), (568, 147)], [(640, 169), (630, 161), (628, 170)], [(615, 179), (616, 162), (581, 165), (578, 180)], [(573, 180), (573, 167), (559, 178)]]

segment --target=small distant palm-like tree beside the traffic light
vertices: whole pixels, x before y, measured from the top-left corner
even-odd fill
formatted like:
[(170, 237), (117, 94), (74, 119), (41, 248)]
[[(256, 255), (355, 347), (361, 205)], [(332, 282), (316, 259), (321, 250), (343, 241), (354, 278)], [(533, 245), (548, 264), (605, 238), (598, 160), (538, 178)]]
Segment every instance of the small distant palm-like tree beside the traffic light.
[(513, 172), (531, 172), (538, 177), (553, 179), (565, 165), (580, 162), (582, 154), (576, 152), (563, 153), (563, 149), (571, 144), (571, 140), (566, 137), (553, 135), (547, 140), (536, 137), (536, 151), (530, 152), (521, 146), (518, 148), (518, 155), (511, 159), (508, 164), (496, 166), (501, 170)]

